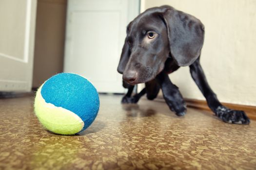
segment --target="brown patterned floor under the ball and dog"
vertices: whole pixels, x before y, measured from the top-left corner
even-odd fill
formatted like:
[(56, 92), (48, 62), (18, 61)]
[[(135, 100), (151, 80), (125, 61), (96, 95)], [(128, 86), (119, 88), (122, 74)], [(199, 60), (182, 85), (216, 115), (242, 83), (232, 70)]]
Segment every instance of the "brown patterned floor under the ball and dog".
[(101, 95), (94, 123), (61, 136), (40, 125), (33, 97), (0, 99), (0, 170), (256, 170), (256, 121), (227, 124), (191, 108), (177, 117), (164, 102), (120, 100)]

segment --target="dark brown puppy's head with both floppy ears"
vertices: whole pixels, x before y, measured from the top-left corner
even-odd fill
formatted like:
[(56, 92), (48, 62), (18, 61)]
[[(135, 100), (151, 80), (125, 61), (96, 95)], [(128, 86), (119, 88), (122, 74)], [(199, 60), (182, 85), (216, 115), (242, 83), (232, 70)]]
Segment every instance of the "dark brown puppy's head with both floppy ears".
[(150, 8), (127, 26), (118, 72), (131, 85), (148, 82), (164, 69), (169, 55), (178, 66), (191, 65), (203, 39), (197, 18), (171, 6)]

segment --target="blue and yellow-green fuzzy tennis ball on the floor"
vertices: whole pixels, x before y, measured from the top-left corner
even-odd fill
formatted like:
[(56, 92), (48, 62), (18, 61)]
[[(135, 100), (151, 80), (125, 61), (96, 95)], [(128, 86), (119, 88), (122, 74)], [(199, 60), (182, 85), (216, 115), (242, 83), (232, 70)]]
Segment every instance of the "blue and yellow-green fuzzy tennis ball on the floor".
[(46, 129), (56, 134), (72, 135), (85, 130), (96, 118), (98, 92), (84, 77), (60, 73), (39, 87), (34, 106)]

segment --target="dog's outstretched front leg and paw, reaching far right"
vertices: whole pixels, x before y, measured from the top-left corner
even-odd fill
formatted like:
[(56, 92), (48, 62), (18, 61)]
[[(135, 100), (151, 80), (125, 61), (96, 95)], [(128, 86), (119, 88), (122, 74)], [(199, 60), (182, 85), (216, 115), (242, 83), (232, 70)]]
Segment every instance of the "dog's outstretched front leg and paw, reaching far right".
[(199, 58), (190, 66), (191, 76), (196, 82), (197, 86), (203, 93), (208, 106), (215, 113), (215, 115), (227, 123), (235, 124), (249, 124), (250, 119), (242, 110), (232, 110), (223, 106), (217, 99), (216, 94), (213, 92), (207, 83), (203, 69), (199, 63)]

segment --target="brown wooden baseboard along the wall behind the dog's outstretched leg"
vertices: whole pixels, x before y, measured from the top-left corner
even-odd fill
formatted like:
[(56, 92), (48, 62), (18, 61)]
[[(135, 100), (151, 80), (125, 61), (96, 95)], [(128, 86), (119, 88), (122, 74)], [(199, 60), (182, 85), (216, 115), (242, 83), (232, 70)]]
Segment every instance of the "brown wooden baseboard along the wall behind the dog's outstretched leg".
[[(197, 109), (210, 110), (206, 101), (195, 100), (195, 99), (185, 99), (188, 107), (193, 107)], [(243, 110), (250, 119), (256, 120), (256, 106), (247, 106), (240, 104), (222, 103), (231, 109)]]

